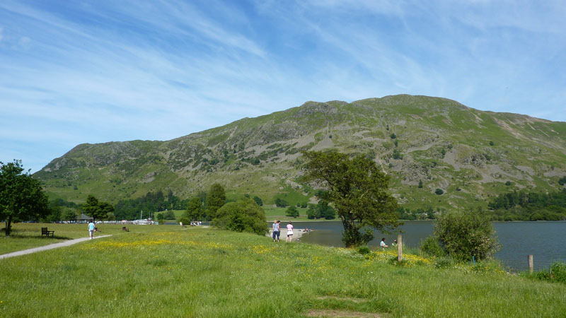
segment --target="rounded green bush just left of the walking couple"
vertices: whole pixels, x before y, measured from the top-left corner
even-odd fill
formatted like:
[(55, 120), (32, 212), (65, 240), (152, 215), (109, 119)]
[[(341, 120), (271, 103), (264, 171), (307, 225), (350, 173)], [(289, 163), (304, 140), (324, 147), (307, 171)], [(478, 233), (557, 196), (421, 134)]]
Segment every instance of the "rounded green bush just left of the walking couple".
[(229, 202), (216, 211), (212, 224), (218, 228), (236, 232), (250, 232), (265, 235), (265, 211), (251, 199)]

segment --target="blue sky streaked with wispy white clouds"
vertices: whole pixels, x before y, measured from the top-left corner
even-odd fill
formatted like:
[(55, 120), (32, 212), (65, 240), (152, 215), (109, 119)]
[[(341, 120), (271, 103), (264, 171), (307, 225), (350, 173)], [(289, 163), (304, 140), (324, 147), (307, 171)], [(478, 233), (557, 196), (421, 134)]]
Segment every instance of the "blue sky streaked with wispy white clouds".
[(566, 122), (563, 1), (0, 1), (0, 160), (400, 93)]

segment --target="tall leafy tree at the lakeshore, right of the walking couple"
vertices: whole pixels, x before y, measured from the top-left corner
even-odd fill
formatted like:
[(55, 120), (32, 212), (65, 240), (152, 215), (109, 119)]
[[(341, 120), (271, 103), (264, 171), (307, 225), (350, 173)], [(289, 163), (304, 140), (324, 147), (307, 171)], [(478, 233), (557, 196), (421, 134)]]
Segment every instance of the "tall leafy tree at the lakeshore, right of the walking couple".
[(371, 228), (387, 231), (400, 225), (395, 213), (397, 201), (388, 192), (389, 177), (374, 161), (364, 155), (350, 158), (335, 151), (303, 154), (308, 160), (305, 179), (325, 189), (317, 196), (333, 202), (344, 225), (342, 240), (347, 247), (372, 240)]

